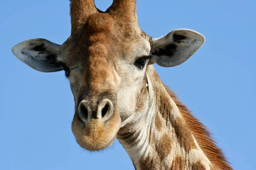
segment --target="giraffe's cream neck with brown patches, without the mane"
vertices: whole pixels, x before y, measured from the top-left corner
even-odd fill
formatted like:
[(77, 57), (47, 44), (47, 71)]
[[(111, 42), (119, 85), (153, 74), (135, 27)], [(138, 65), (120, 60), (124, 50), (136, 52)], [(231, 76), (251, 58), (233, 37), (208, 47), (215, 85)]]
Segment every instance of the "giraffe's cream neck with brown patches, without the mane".
[(175, 102), (149, 66), (144, 110), (123, 122), (117, 139), (137, 170), (209, 170), (212, 165)]

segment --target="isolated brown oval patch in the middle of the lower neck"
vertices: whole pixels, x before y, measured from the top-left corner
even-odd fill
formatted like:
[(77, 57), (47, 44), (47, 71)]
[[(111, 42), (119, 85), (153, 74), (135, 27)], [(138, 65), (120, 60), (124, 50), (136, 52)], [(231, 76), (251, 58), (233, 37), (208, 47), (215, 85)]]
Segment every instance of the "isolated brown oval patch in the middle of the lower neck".
[(156, 151), (160, 156), (160, 159), (165, 159), (172, 149), (172, 139), (168, 136), (168, 134), (164, 134), (161, 138), (158, 146), (156, 146)]

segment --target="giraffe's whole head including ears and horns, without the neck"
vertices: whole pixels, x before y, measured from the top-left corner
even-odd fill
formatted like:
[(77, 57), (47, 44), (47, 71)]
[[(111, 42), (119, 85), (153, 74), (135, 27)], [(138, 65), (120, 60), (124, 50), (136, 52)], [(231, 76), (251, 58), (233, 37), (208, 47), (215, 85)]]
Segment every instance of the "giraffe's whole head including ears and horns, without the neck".
[(204, 36), (178, 29), (149, 37), (138, 25), (136, 0), (114, 0), (105, 12), (93, 0), (70, 1), (72, 30), (66, 42), (26, 40), (12, 52), (35, 70), (65, 71), (75, 100), (76, 140), (87, 150), (101, 150), (142, 107), (138, 101), (146, 95), (148, 65), (185, 62), (203, 45)]

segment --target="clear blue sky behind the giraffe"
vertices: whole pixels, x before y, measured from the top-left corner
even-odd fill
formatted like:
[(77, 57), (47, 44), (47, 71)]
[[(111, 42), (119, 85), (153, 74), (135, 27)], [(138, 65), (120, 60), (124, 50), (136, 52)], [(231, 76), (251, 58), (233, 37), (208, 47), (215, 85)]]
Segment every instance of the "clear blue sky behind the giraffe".
[[(105, 10), (111, 0), (96, 0)], [(155, 66), (163, 82), (214, 134), (236, 170), (255, 170), (256, 2), (138, 0), (140, 27), (153, 37), (177, 28), (206, 43), (175, 68)], [(131, 170), (116, 141), (89, 153), (71, 132), (73, 95), (63, 71), (41, 73), (11, 53), (32, 38), (62, 44), (70, 35), (68, 0), (0, 1), (0, 170)]]

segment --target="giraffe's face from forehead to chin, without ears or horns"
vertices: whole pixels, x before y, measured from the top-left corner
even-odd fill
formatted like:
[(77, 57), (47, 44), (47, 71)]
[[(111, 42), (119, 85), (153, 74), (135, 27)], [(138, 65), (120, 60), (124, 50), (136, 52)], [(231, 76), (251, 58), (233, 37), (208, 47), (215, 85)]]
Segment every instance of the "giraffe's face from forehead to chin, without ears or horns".
[(87, 18), (81, 29), (61, 45), (61, 65), (75, 99), (72, 130), (88, 150), (112, 144), (121, 122), (135, 112), (150, 44), (132, 29), (122, 29), (109, 14)]

